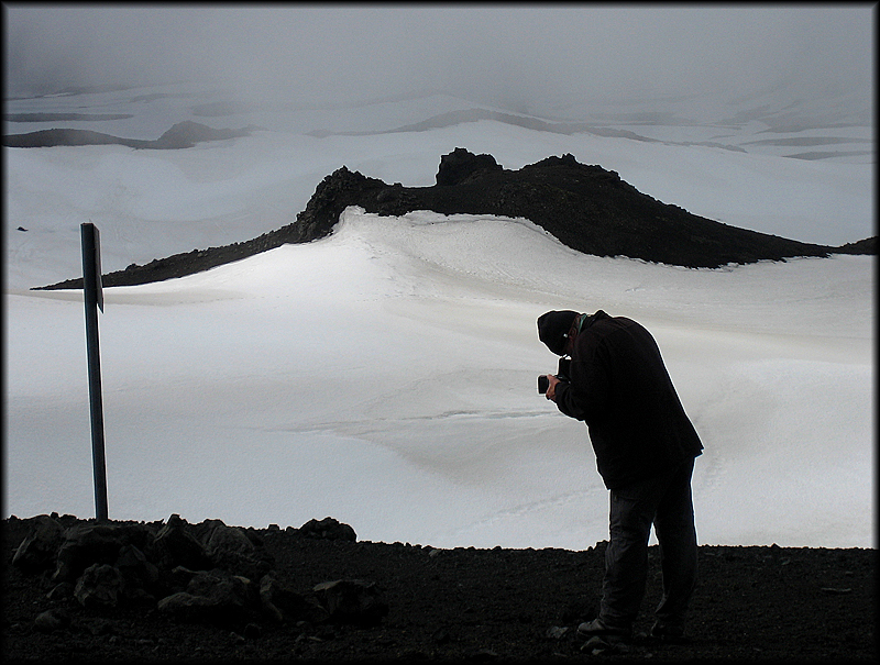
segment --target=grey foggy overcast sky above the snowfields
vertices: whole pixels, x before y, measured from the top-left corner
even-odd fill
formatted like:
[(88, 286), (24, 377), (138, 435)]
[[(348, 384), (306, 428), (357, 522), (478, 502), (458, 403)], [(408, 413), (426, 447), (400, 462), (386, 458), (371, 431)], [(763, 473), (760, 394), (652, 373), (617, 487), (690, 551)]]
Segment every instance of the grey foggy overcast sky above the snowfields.
[(304, 100), (446, 90), (515, 108), (795, 81), (870, 89), (876, 9), (684, 5), (4, 3), (7, 95), (210, 80)]

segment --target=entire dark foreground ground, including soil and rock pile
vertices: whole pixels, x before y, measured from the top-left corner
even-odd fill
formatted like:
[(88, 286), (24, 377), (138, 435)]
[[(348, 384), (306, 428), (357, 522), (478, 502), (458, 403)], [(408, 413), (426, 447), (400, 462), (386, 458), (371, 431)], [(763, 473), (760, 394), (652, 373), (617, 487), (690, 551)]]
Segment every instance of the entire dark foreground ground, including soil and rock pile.
[[(302, 527), (2, 522), (4, 662), (876, 662), (876, 550), (700, 547), (688, 639), (585, 647), (605, 543), (439, 550)], [(637, 633), (659, 602), (657, 547)]]

